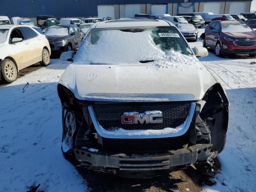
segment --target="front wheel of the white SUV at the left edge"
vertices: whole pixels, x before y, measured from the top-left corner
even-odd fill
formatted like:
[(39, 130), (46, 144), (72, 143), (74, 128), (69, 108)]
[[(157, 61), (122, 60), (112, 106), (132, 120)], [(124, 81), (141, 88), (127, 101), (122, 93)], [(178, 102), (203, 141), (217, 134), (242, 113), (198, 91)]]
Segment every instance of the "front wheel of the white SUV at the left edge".
[(16, 65), (10, 59), (4, 59), (2, 61), (1, 73), (7, 83), (14, 82), (18, 76)]

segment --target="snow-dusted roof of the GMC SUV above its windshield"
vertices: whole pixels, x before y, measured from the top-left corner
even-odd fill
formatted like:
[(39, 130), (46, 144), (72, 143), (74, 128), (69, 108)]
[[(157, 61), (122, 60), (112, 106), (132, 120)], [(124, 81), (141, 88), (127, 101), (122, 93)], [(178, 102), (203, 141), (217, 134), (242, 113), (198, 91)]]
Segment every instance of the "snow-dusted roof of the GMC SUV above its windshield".
[[(156, 19), (109, 20), (96, 24), (95, 28), (170, 26), (166, 21)], [(174, 26), (174, 25), (173, 25)]]

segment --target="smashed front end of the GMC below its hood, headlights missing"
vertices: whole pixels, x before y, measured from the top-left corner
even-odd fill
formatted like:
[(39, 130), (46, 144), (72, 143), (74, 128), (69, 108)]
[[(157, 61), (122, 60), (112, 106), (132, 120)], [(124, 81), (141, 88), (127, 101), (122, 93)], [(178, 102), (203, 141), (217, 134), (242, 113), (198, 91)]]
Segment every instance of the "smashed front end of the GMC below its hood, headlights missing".
[[(211, 167), (213, 159), (224, 148), (229, 104), (218, 83), (198, 101), (78, 100), (60, 84), (58, 94), (62, 103), (62, 151), (66, 157), (75, 158), (80, 166), (88, 169), (124, 176), (138, 172), (170, 172), (194, 167), (196, 163), (206, 163)], [(161, 111), (162, 123), (140, 124), (140, 120), (137, 124), (126, 125), (121, 122), (124, 112), (148, 110)], [(127, 130), (159, 133), (167, 125), (175, 130), (180, 122), (184, 125), (182, 129), (168, 133), (114, 134), (120, 127), (124, 133)]]

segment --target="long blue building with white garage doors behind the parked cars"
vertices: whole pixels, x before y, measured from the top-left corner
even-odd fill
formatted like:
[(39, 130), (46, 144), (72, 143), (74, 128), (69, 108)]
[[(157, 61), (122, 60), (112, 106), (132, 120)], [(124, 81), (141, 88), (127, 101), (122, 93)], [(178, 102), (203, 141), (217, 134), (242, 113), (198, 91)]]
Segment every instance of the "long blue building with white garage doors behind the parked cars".
[(118, 19), (134, 14), (176, 15), (185, 12), (240, 14), (249, 12), (250, 0), (1, 0), (0, 14), (35, 18), (38, 15), (56, 17), (104, 17)]

